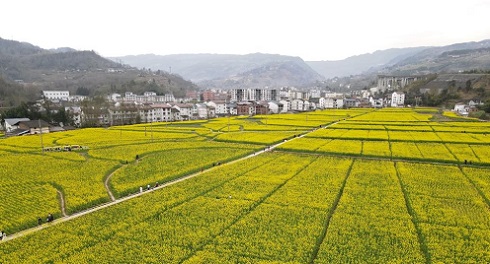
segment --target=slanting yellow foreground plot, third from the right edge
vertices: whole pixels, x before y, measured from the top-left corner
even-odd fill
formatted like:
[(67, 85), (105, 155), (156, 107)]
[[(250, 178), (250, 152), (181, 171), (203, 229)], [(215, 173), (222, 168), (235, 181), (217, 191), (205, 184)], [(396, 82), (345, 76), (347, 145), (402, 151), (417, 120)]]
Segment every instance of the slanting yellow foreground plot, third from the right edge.
[(317, 158), (188, 262), (309, 262), (351, 163)]

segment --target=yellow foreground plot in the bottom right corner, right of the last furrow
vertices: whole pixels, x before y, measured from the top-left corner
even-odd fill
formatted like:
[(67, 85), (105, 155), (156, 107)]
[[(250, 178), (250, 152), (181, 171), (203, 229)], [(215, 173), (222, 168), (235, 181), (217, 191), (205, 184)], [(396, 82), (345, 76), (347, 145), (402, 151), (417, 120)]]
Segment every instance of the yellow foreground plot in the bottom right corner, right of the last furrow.
[(398, 163), (397, 170), (431, 262), (490, 261), (488, 205), (458, 167)]

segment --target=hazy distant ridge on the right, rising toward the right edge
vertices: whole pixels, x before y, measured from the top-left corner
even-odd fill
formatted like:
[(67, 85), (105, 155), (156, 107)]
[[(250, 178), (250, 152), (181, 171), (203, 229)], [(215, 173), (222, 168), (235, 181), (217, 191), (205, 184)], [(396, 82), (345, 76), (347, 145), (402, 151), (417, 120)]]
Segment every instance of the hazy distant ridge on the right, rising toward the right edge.
[(490, 40), (376, 51), (339, 61), (307, 61), (326, 78), (359, 74), (421, 75), (490, 69)]

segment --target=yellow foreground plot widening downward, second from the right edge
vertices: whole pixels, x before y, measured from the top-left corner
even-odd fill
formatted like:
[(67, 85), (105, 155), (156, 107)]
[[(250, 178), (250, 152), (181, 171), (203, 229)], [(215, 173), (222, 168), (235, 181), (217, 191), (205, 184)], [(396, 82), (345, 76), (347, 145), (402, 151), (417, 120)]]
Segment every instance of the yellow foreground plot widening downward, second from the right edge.
[(353, 164), (315, 263), (423, 263), (392, 162)]

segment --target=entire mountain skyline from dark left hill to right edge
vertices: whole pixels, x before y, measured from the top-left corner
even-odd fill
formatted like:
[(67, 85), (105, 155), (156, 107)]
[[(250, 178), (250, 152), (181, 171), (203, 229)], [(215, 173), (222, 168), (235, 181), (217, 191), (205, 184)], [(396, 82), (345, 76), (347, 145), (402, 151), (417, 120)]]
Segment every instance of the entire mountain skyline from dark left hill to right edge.
[[(442, 47), (396, 48), (339, 61), (305, 62), (299, 57), (262, 53), (147, 54), (107, 59), (94, 51), (76, 51), (69, 47), (45, 50), (30, 43), (0, 38), (0, 78), (6, 81), (0, 82), (0, 97), (5, 95), (0, 100), (4, 105), (5, 101), (13, 105), (25, 99), (26, 94), (39, 93), (41, 89), (75, 93), (78, 88), (84, 88), (90, 95), (172, 92), (176, 97), (198, 87), (321, 85), (346, 91), (373, 87), (377, 74), (422, 75), (471, 70), (488, 72), (489, 69), (490, 40)], [(342, 78), (336, 81), (333, 77)], [(24, 88), (17, 89), (14, 81), (23, 83)], [(20, 94), (14, 96), (12, 91)], [(5, 99), (7, 96), (10, 98)]]

